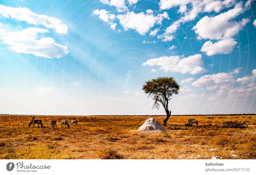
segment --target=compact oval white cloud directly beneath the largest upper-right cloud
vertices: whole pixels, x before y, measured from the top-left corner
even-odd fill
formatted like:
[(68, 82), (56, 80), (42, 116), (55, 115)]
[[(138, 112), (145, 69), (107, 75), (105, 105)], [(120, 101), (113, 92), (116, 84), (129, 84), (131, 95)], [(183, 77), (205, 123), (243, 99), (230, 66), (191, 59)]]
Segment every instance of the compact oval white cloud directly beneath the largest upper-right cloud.
[(237, 42), (233, 38), (223, 39), (216, 43), (212, 43), (212, 41), (206, 41), (202, 46), (201, 51), (206, 52), (206, 55), (208, 56), (214, 54), (227, 54), (233, 51), (236, 43)]

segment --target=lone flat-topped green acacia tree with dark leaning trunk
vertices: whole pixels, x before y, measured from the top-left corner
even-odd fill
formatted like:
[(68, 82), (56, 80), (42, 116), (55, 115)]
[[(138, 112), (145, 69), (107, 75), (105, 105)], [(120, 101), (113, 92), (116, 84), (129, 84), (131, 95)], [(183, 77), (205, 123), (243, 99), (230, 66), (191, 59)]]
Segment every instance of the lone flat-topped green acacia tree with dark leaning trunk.
[(148, 97), (152, 97), (154, 100), (152, 109), (159, 109), (160, 104), (164, 106), (166, 112), (164, 126), (166, 126), (171, 116), (171, 111), (168, 109), (169, 100), (172, 99), (173, 94), (179, 93), (179, 89), (180, 85), (173, 77), (157, 77), (156, 79), (146, 81), (142, 87), (142, 90), (148, 94)]

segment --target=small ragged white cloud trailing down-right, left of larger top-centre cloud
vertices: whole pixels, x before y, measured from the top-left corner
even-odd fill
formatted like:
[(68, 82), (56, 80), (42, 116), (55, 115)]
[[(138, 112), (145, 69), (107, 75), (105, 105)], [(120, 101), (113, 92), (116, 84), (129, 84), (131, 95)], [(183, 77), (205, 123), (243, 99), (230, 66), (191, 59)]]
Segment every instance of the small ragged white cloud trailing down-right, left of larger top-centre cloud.
[(113, 20), (116, 18), (116, 15), (109, 13), (105, 9), (96, 9), (92, 12), (94, 15), (98, 15), (101, 20), (104, 22), (108, 22), (110, 24), (110, 28), (113, 30), (116, 29), (116, 23), (113, 23)]

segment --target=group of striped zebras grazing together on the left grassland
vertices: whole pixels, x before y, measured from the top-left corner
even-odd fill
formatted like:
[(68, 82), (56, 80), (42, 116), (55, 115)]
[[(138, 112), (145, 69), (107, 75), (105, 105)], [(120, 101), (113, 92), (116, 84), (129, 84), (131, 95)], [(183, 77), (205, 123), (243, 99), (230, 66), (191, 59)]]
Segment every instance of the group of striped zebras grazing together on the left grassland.
[[(60, 123), (61, 123), (61, 128), (62, 128), (62, 126), (64, 126), (64, 128), (66, 128), (66, 125), (67, 125), (68, 128), (69, 128), (69, 123), (68, 123), (67, 120), (61, 120)], [(43, 122), (42, 122), (42, 120), (35, 120), (35, 116), (33, 116), (32, 119), (31, 119), (31, 121), (28, 123), (28, 127), (30, 127), (31, 124), (33, 124), (33, 127), (34, 127), (34, 128), (35, 128), (35, 124), (38, 124), (37, 127), (39, 127), (39, 125), (41, 125), (41, 128), (43, 127)], [(70, 122), (70, 125), (73, 125), (73, 124), (76, 124), (76, 126), (77, 126), (76, 117), (73, 117), (73, 120), (71, 120), (71, 122)], [(51, 127), (52, 129), (55, 129), (55, 127), (57, 128), (57, 121), (56, 121), (56, 120), (52, 120), (52, 121), (50, 122), (50, 127)]]

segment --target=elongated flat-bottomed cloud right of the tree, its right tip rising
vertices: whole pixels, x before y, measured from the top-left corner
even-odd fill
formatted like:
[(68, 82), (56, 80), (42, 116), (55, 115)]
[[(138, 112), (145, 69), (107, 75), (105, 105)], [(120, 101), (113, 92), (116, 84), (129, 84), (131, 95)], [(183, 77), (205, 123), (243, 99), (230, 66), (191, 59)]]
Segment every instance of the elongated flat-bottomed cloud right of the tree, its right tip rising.
[(212, 89), (212, 86), (220, 85), (220, 86), (227, 86), (233, 82), (234, 74), (238, 73), (239, 69), (235, 69), (233, 72), (229, 73), (218, 73), (212, 75), (205, 75), (197, 79), (192, 83), (193, 86), (201, 87), (201, 86), (208, 86)]

